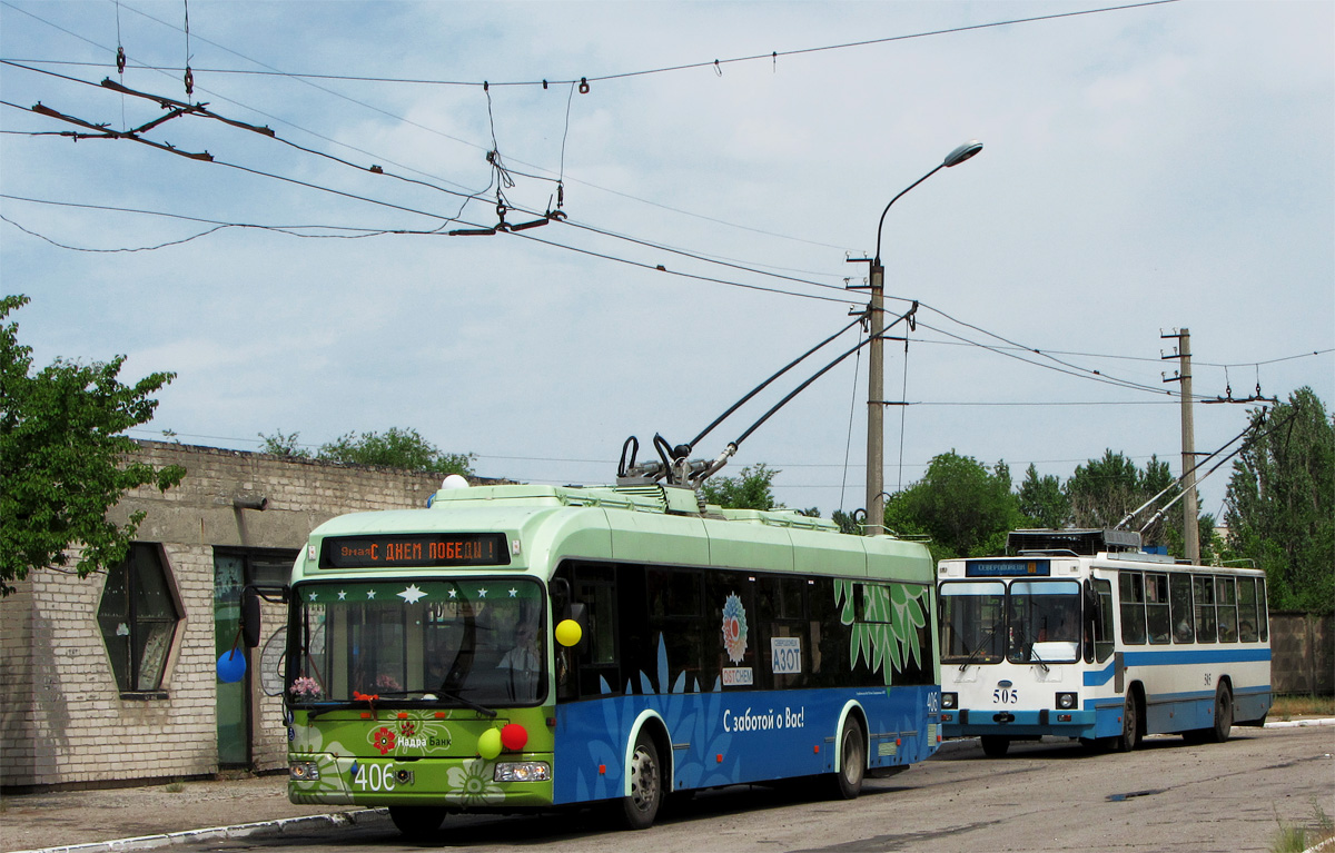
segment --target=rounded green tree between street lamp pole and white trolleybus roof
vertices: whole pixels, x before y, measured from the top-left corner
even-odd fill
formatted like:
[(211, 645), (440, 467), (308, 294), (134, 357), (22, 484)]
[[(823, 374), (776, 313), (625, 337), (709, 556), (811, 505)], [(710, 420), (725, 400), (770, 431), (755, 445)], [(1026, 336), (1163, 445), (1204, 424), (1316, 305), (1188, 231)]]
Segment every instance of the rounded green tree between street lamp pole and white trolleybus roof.
[(934, 457), (922, 479), (892, 495), (885, 506), (886, 529), (900, 535), (930, 535), (936, 559), (1000, 554), (1007, 533), (1021, 518), (1005, 463), (989, 471), (953, 450)]

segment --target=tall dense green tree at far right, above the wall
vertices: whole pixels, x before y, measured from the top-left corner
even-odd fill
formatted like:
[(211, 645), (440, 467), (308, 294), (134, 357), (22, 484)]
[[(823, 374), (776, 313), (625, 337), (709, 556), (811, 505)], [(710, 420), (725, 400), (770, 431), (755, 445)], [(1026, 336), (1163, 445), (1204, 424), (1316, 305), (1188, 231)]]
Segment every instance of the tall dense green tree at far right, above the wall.
[(1335, 423), (1310, 387), (1267, 415), (1228, 482), (1228, 543), (1266, 570), (1274, 610), (1335, 607)]

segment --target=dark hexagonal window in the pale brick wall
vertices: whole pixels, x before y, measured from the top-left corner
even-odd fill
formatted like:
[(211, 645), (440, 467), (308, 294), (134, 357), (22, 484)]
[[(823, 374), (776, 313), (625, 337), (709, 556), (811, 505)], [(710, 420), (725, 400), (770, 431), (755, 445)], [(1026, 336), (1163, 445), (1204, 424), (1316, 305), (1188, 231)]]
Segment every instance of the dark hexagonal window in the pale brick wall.
[(178, 622), (180, 605), (162, 547), (135, 542), (124, 562), (107, 573), (97, 606), (97, 625), (123, 694), (162, 690)]

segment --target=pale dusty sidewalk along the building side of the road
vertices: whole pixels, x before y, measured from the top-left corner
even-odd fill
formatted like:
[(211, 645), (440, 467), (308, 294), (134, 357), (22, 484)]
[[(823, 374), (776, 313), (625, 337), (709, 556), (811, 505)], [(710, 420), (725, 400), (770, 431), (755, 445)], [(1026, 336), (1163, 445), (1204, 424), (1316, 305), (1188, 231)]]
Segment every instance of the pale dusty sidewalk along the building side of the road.
[[(1335, 726), (1335, 718), (1276, 721), (1267, 729)], [(961, 744), (963, 745), (963, 744)], [(943, 749), (952, 749), (947, 742)], [(0, 850), (111, 853), (190, 841), (282, 834), (295, 828), (384, 822), (384, 809), (295, 805), (287, 774), (0, 797)]]

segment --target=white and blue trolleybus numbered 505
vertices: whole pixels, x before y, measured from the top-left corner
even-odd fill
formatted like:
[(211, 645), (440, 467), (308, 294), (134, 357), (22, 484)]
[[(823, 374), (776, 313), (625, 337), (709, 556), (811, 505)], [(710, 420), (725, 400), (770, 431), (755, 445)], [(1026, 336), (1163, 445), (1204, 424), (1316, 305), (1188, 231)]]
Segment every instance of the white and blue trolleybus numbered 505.
[(1043, 736), (1228, 738), (1271, 703), (1264, 574), (1149, 554), (1115, 530), (1017, 530), (937, 570), (941, 730), (991, 757)]

